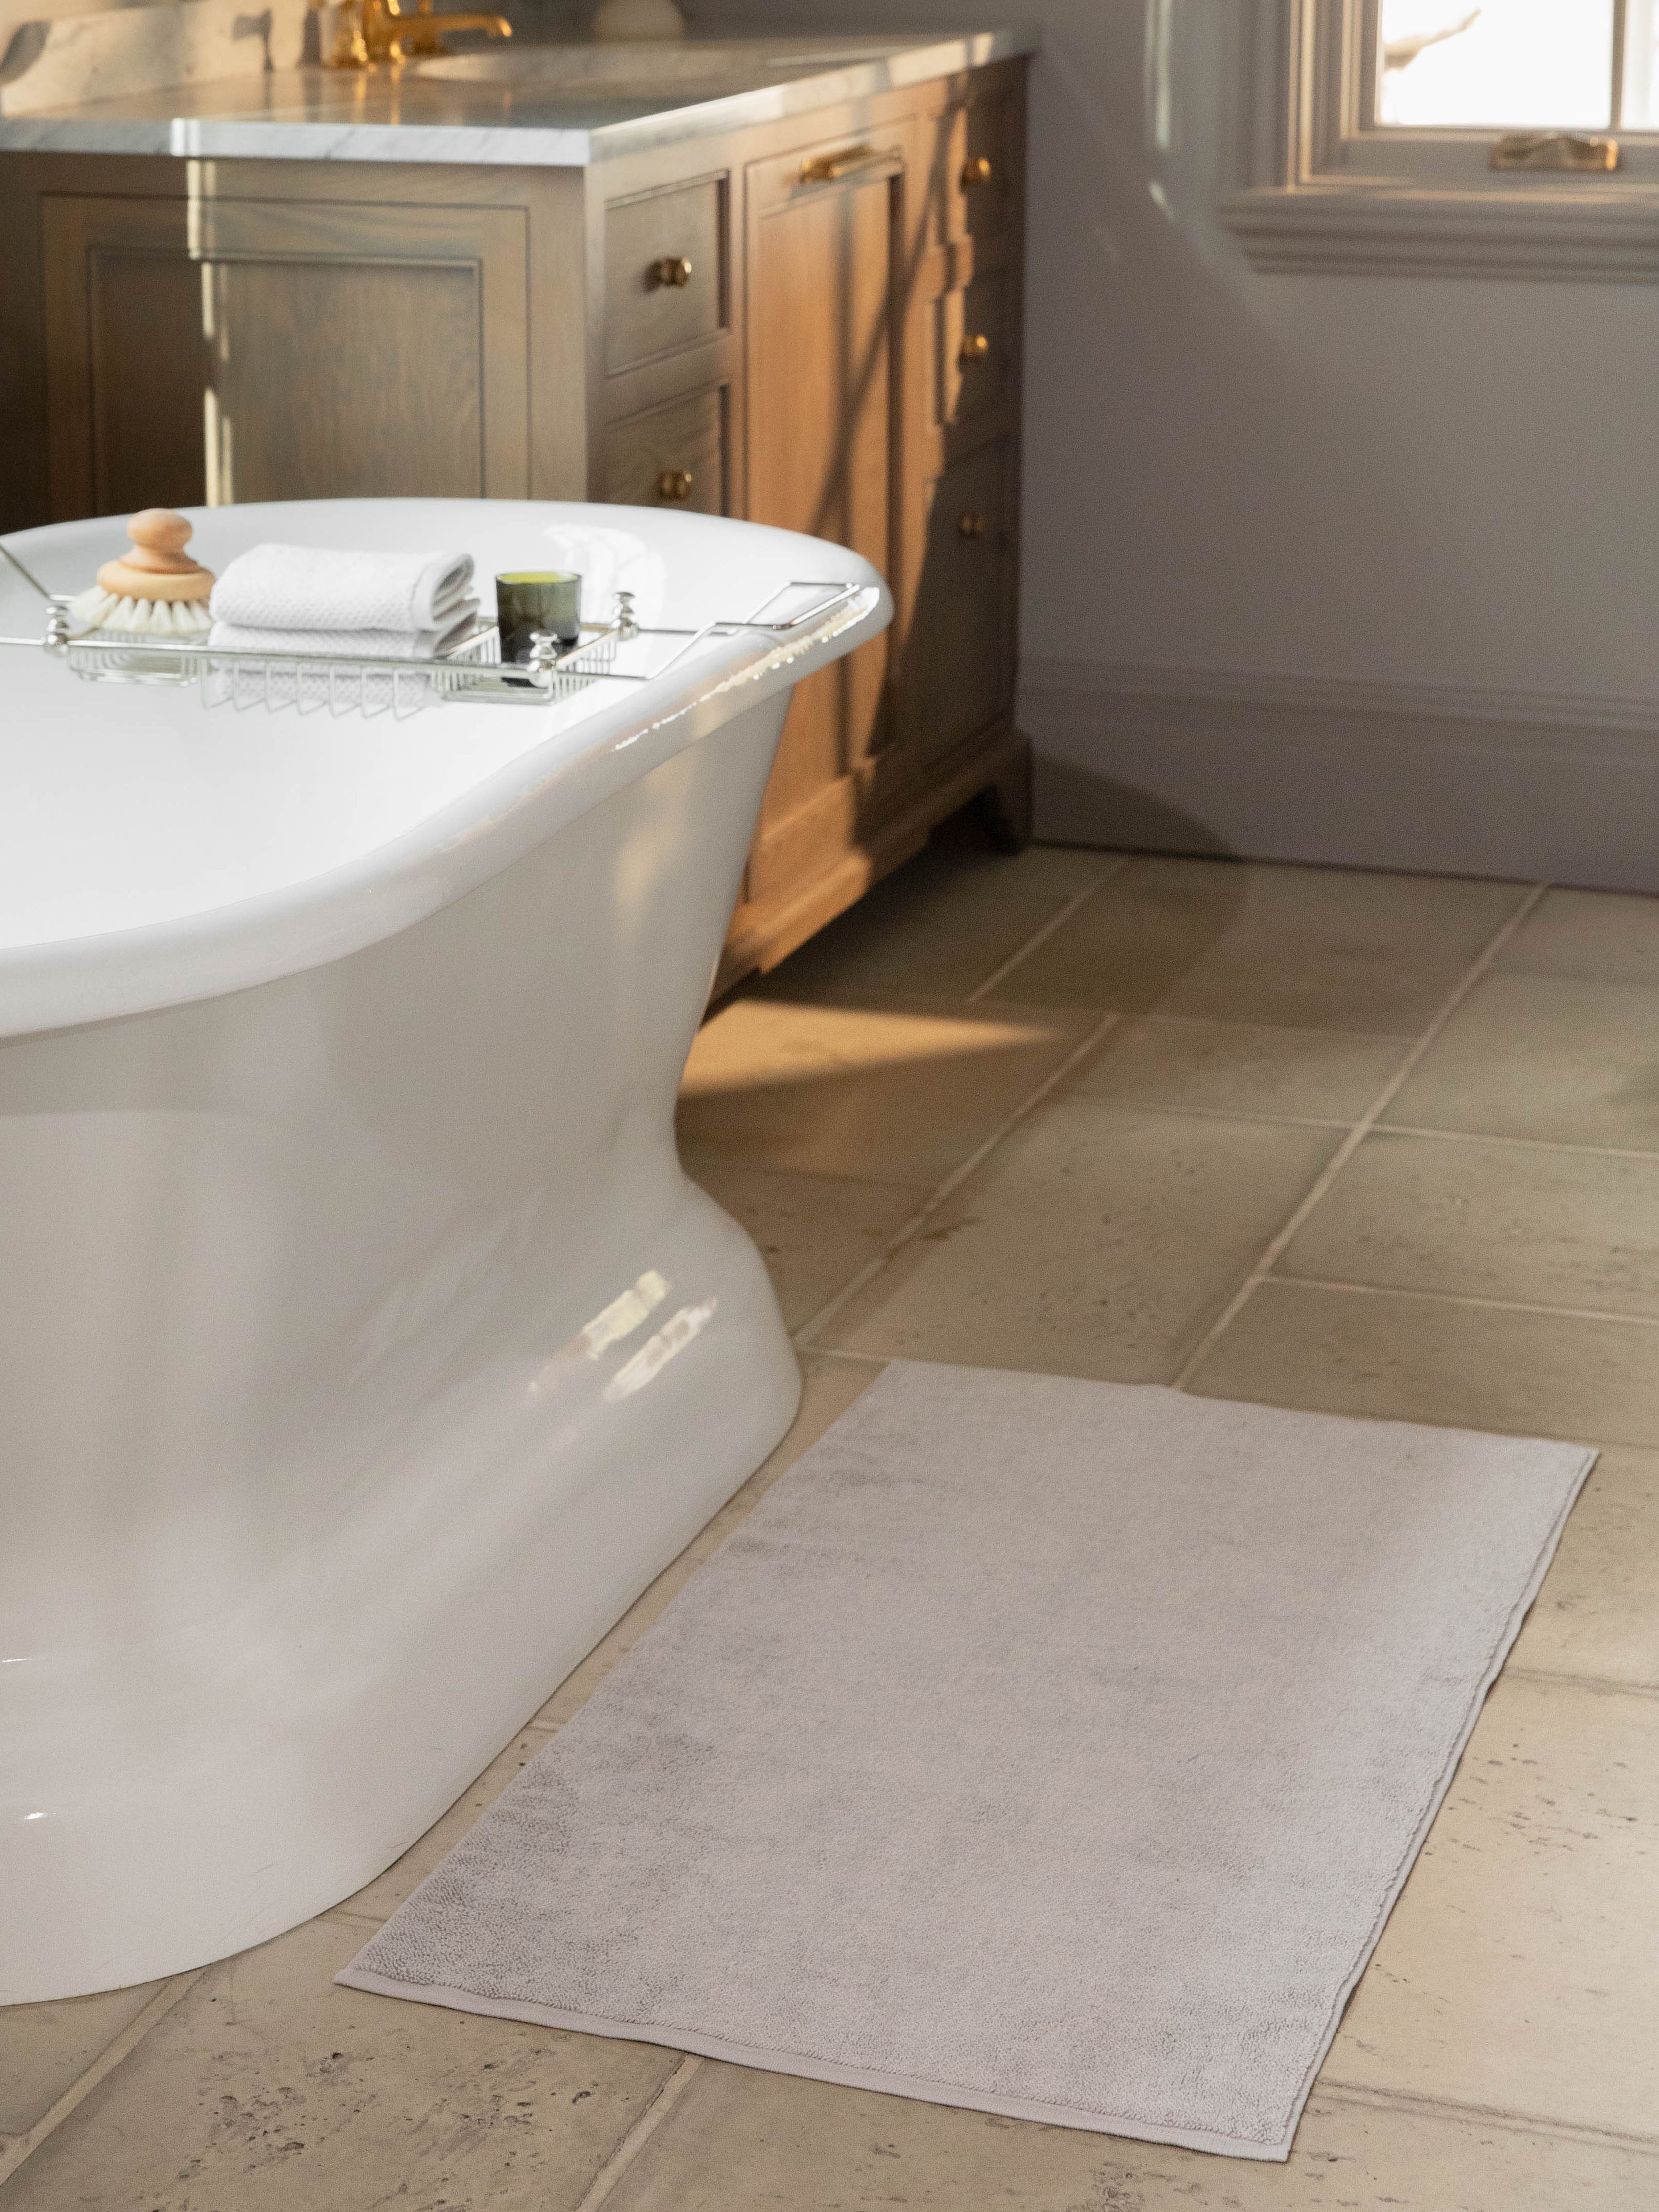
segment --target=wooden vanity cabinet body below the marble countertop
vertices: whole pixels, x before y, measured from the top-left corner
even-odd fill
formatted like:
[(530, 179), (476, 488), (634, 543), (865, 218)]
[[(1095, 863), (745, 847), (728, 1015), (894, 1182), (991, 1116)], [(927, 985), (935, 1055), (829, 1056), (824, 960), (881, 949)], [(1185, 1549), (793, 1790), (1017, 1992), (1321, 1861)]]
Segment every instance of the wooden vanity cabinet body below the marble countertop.
[(0, 522), (427, 493), (854, 546), (896, 622), (796, 692), (721, 982), (1013, 730), (1024, 62), (586, 170), (0, 155)]

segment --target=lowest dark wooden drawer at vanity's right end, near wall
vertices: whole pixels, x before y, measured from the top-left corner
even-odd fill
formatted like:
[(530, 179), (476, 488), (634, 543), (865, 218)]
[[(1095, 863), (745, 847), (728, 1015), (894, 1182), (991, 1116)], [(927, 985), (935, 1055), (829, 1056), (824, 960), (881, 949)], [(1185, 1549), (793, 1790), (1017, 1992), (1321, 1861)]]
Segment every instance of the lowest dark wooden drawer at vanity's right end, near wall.
[(905, 653), (907, 726), (922, 759), (1006, 712), (1013, 692), (1013, 447), (980, 447), (933, 480)]

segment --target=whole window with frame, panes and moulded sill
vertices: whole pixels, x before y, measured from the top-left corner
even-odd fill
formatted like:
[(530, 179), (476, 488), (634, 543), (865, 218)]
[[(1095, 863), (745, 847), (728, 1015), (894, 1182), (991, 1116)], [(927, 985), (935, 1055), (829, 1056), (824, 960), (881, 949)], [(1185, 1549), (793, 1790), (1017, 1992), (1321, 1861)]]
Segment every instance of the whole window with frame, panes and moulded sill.
[(1261, 268), (1659, 281), (1659, 0), (1241, 0)]

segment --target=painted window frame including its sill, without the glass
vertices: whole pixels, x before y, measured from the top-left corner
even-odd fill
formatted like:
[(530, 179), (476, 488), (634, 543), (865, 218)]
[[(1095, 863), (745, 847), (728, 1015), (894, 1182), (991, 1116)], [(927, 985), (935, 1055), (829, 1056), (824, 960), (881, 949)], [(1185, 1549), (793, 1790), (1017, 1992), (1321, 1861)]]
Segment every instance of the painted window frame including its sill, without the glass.
[(1256, 268), (1659, 281), (1659, 131), (1606, 126), (1619, 168), (1573, 175), (1493, 170), (1498, 128), (1371, 124), (1378, 7), (1239, 0), (1221, 219)]

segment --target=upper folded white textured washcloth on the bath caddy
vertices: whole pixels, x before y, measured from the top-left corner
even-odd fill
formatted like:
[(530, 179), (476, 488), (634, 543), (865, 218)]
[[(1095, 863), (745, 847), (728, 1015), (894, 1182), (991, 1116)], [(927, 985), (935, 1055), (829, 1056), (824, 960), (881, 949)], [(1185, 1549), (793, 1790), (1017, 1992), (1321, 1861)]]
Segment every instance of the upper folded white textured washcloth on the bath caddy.
[[(469, 553), (250, 546), (212, 586), (215, 622), (254, 630), (449, 630), (469, 599)], [(299, 650), (299, 648), (290, 648)]]

